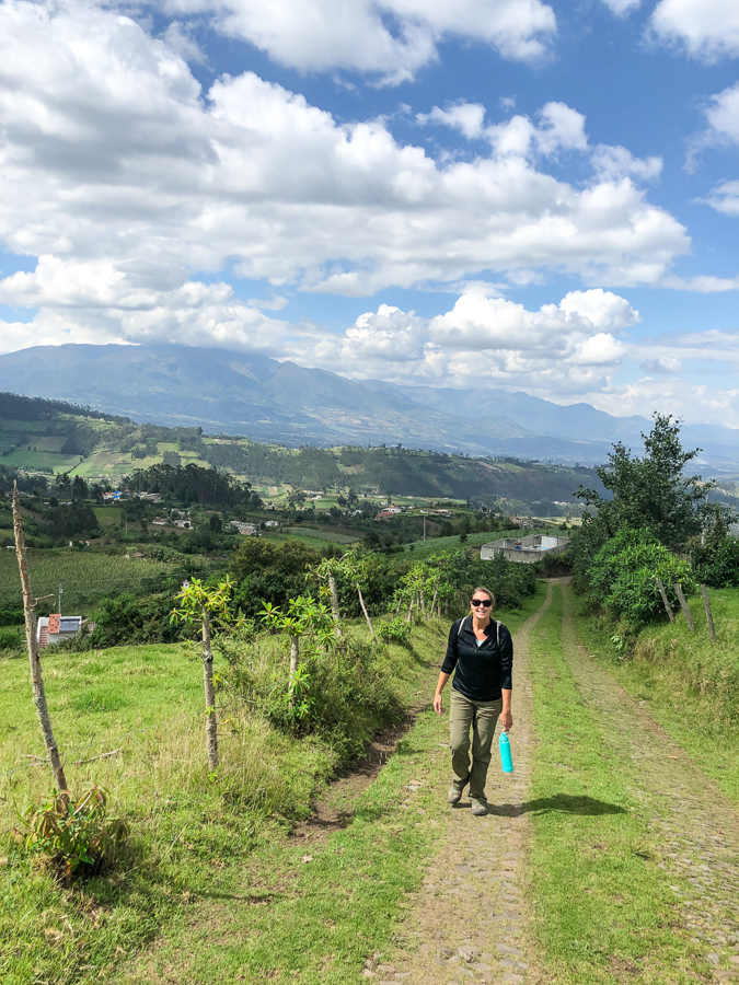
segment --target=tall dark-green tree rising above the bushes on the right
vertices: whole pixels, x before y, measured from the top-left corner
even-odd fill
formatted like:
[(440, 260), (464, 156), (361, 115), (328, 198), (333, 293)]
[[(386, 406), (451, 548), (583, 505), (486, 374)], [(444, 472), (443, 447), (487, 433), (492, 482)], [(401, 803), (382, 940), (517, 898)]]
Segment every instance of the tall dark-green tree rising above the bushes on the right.
[[(705, 523), (707, 494), (715, 483), (700, 475), (683, 474), (689, 462), (702, 451), (685, 451), (680, 441), (679, 419), (655, 412), (654, 427), (644, 438), (643, 456), (619, 441), (609, 454), (608, 465), (596, 472), (613, 499), (580, 486), (575, 494), (586, 507), (594, 507), (597, 517), (584, 514), (584, 523), (596, 523), (604, 543), (617, 531), (647, 529), (667, 547), (680, 547), (698, 534)], [(592, 531), (591, 533), (594, 533)]]

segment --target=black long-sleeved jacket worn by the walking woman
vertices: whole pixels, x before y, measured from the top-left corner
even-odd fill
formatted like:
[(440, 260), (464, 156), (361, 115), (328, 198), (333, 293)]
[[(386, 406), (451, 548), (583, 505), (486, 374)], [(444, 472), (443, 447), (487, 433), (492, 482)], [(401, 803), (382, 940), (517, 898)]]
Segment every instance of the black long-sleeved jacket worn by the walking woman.
[(452, 687), (471, 702), (497, 702), (500, 688), (512, 688), (513, 640), (503, 623), (499, 625), (500, 645), (498, 623), (490, 619), (485, 627), (487, 639), (478, 647), (472, 616), (452, 623), (441, 670), (451, 674), (457, 668)]

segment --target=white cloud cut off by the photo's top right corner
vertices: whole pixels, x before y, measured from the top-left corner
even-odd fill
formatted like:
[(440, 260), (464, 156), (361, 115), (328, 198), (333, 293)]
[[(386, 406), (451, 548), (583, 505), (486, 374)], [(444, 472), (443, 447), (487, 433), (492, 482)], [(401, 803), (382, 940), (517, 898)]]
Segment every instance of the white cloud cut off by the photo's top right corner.
[(739, 4), (735, 0), (660, 0), (651, 15), (656, 36), (693, 58), (716, 61), (739, 55)]

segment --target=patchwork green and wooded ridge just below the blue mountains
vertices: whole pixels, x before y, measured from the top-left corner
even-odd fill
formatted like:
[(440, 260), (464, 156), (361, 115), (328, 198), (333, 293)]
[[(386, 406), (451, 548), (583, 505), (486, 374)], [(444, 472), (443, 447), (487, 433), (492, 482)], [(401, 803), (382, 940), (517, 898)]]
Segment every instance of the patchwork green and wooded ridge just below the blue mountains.
[[(267, 496), (286, 488), (355, 489), (357, 494), (480, 498), (518, 503), (568, 502), (592, 470), (404, 448), (290, 449), (246, 438), (204, 434), (199, 428), (138, 425), (54, 401), (0, 394), (0, 463), (36, 472), (69, 472), (118, 480), (159, 462), (215, 465)], [(516, 509), (517, 507), (511, 507)]]

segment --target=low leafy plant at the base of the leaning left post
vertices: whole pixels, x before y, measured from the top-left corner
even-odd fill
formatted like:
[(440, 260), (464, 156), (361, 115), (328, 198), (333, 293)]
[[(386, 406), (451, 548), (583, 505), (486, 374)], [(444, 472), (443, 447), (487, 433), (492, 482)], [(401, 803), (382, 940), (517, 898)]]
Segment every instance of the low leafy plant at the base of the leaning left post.
[(78, 801), (54, 793), (28, 807), (13, 834), (25, 851), (47, 856), (69, 878), (94, 876), (113, 865), (128, 826), (120, 818), (107, 816), (107, 795), (94, 786)]

